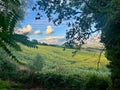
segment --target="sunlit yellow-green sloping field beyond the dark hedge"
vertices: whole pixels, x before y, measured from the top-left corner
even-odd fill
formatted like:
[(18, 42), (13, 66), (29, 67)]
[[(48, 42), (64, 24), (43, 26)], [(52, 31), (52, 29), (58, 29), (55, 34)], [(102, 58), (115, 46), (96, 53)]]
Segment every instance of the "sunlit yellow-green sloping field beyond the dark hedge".
[(108, 60), (104, 53), (101, 56), (99, 69), (97, 68), (100, 51), (80, 50), (72, 57), (74, 49), (63, 51), (61, 47), (43, 45), (39, 45), (38, 48), (28, 48), (21, 45), (21, 48), (22, 52), (14, 52), (14, 54), (20, 62), (27, 66), (34, 66), (33, 69), (41, 67), (42, 70), (40, 69), (40, 71), (64, 74), (81, 74), (81, 72), (109, 74), (106, 68)]

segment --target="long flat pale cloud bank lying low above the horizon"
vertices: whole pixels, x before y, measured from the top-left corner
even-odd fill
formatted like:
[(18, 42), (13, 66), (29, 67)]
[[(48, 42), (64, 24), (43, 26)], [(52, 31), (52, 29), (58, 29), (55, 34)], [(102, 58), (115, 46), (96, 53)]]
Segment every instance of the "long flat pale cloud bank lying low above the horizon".
[(48, 44), (63, 44), (65, 42), (64, 36), (49, 36), (39, 40), (40, 42)]

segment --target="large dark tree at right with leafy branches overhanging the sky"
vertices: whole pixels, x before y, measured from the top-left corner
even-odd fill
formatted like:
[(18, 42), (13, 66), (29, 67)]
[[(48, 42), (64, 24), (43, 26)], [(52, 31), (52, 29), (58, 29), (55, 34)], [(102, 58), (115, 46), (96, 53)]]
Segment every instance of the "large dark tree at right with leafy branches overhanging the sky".
[(91, 34), (102, 33), (101, 42), (110, 60), (112, 87), (119, 90), (120, 0), (38, 0), (37, 5), (33, 8), (44, 11), (55, 25), (68, 20), (66, 46), (76, 45), (80, 49)]

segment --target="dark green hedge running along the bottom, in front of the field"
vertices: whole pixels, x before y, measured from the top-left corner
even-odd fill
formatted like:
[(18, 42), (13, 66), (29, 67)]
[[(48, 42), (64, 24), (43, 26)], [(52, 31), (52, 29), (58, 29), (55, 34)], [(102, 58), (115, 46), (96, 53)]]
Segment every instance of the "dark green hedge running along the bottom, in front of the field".
[(108, 77), (81, 76), (58, 73), (36, 73), (26, 79), (27, 87), (44, 87), (46, 90), (108, 90)]

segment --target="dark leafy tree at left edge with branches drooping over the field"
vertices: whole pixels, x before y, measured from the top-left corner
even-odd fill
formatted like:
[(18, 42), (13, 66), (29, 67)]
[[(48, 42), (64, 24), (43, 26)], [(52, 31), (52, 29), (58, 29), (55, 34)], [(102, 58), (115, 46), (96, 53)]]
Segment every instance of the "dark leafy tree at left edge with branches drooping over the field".
[(16, 57), (8, 49), (8, 45), (16, 50), (21, 50), (17, 42), (31, 47), (35, 46), (30, 43), (27, 36), (14, 33), (18, 21), (23, 20), (27, 2), (27, 0), (0, 0), (0, 47), (14, 59)]

